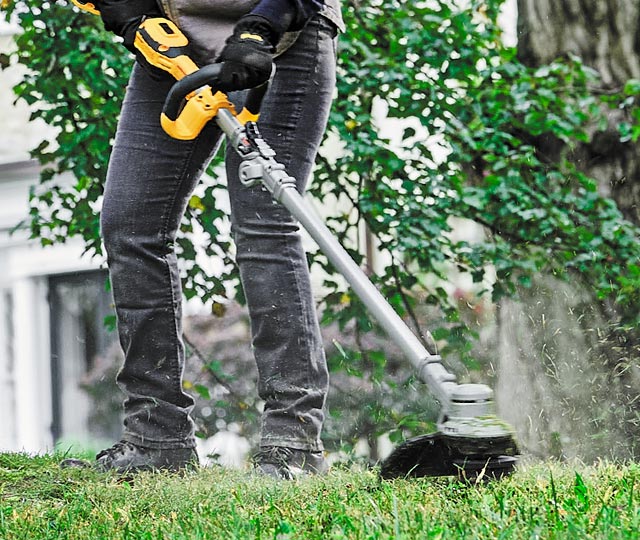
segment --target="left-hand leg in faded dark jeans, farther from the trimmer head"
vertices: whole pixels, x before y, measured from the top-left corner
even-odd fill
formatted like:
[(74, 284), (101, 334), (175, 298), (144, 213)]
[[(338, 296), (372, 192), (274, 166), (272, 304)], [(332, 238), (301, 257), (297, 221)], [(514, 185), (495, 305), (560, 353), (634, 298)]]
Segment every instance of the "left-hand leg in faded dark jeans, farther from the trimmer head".
[(136, 67), (112, 150), (101, 227), (125, 362), (123, 441), (146, 449), (195, 446), (182, 389), (181, 287), (174, 241), (190, 194), (220, 139), (213, 123), (195, 141), (164, 133), (173, 80)]

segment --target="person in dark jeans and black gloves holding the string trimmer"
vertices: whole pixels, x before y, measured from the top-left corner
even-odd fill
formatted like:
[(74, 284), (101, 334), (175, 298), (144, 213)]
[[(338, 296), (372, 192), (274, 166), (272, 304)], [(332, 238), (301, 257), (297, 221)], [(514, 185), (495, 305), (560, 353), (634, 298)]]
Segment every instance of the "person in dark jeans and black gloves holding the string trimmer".
[[(338, 0), (101, 0), (105, 28), (134, 50), (140, 23), (166, 16), (187, 35), (199, 65), (223, 63), (217, 88), (238, 106), (275, 75), (259, 127), (305, 189), (335, 87)], [(96, 456), (100, 470), (180, 470), (197, 462), (193, 398), (184, 392), (181, 288), (174, 241), (187, 202), (218, 148), (210, 122), (193, 141), (160, 126), (175, 81), (138, 55), (109, 161), (101, 232), (125, 353), (120, 441)], [(270, 194), (238, 178), (226, 155), (236, 260), (249, 309), (264, 401), (256, 470), (289, 479), (327, 469), (320, 438), (328, 373), (297, 222)]]

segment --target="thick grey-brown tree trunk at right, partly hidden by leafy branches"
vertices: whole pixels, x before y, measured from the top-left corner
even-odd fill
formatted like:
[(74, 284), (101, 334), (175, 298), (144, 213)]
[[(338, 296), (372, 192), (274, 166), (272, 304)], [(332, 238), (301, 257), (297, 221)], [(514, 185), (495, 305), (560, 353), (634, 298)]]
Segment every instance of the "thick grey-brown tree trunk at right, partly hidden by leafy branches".
[[(619, 90), (640, 79), (638, 0), (518, 0), (518, 54), (530, 66), (579, 56), (600, 73), (600, 91)], [(640, 225), (640, 145), (620, 142), (624, 114), (607, 111), (608, 129), (572, 158)], [(640, 347), (613, 318), (591, 291), (551, 276), (499, 306), (497, 401), (525, 453), (640, 455)]]

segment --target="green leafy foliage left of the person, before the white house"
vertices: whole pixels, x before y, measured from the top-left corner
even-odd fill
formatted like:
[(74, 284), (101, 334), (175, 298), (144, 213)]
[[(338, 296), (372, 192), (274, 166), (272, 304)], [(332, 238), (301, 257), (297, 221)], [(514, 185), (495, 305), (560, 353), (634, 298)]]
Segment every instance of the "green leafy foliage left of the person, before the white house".
[(57, 131), (31, 152), (44, 165), (30, 196), (31, 236), (50, 245), (80, 235), (99, 254), (96, 210), (130, 62), (99, 20), (67, 2), (9, 3), (5, 13), (22, 30), (13, 62), (27, 67), (15, 94), (32, 106), (32, 120)]

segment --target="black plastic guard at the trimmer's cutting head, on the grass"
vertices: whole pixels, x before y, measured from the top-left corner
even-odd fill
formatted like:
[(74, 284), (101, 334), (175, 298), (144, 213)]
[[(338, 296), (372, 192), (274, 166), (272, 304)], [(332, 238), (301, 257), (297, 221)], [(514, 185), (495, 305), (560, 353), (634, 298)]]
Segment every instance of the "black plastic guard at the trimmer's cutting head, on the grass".
[[(515, 455), (496, 455), (495, 452), (465, 455), (457, 449), (457, 441), (452, 444), (451, 439), (439, 432), (407, 439), (382, 462), (380, 476), (385, 480), (456, 476), (478, 482), (499, 479), (515, 470), (518, 461)], [(509, 453), (517, 451), (512, 440), (497, 443), (494, 449), (502, 447)]]

